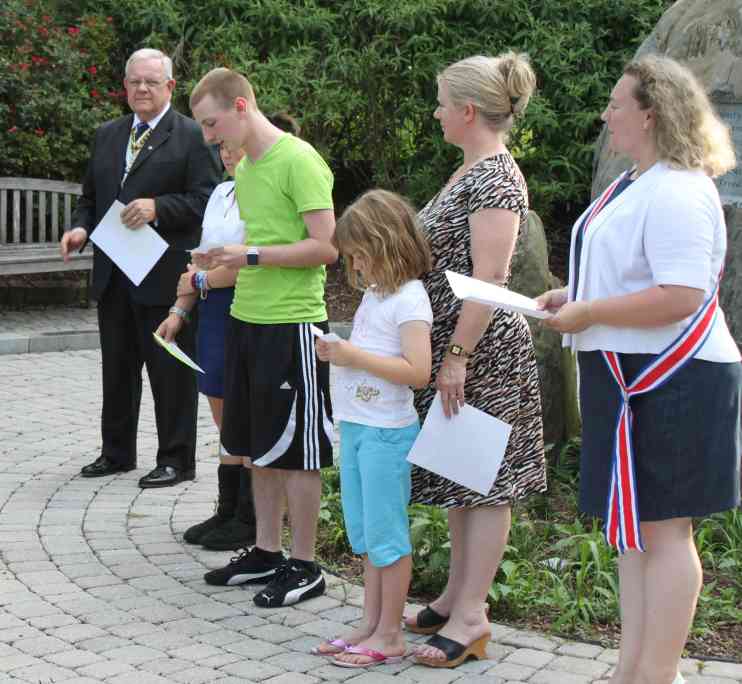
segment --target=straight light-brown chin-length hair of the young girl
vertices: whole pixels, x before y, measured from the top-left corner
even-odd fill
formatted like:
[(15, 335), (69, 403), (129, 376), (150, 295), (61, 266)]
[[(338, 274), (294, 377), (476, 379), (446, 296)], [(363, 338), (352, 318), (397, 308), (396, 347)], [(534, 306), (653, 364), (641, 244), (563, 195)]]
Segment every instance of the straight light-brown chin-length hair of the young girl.
[[(350, 285), (365, 290), (373, 284), (386, 296), (432, 268), (428, 240), (414, 207), (388, 190), (369, 190), (353, 202), (335, 226), (335, 244), (343, 255)], [(353, 255), (369, 264), (371, 282), (355, 270)]]

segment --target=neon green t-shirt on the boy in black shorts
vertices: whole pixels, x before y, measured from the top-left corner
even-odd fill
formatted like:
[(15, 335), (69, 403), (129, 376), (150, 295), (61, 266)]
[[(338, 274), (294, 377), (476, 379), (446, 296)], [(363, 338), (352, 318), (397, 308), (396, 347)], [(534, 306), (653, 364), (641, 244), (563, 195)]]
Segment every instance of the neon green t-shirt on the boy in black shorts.
[[(288, 245), (306, 239), (301, 215), (332, 209), (332, 184), (332, 171), (318, 152), (288, 133), (257, 162), (244, 157), (235, 170), (235, 192), (246, 244)], [(246, 323), (325, 321), (325, 267), (241, 268), (231, 314)]]

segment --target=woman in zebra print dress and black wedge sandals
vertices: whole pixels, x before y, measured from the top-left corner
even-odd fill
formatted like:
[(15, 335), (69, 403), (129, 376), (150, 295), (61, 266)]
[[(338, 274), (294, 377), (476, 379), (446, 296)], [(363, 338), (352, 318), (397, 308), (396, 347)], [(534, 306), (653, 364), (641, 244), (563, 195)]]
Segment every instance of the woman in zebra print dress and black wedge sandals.
[[(413, 501), (448, 509), (451, 565), (444, 592), (406, 618), (408, 629), (438, 632), (417, 652), (433, 667), (483, 657), (490, 638), (485, 599), (510, 531), (510, 506), (546, 489), (541, 400), (531, 336), (520, 314), (463, 303), (445, 271), (507, 283), (528, 213), (525, 180), (505, 146), (535, 76), (524, 55), (471, 57), (438, 77), (435, 117), (464, 162), (420, 212), (433, 252), (423, 278), (433, 307), (433, 382), (416, 395), (423, 419), (436, 392), (446, 415), (464, 402), (512, 425), (505, 459), (489, 494), (416, 468)], [(455, 453), (451, 454), (456, 457)], [(482, 445), (482, 458), (487, 458)]]

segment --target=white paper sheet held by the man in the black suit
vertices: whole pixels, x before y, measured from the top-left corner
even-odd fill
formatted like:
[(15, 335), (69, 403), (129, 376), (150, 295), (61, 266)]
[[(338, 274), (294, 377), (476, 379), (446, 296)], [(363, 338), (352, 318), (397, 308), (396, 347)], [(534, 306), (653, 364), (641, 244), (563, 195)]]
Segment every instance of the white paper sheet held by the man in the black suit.
[(124, 206), (118, 200), (114, 200), (90, 235), (90, 239), (134, 285), (139, 285), (165, 253), (167, 242), (149, 225), (136, 230), (127, 228), (121, 222)]

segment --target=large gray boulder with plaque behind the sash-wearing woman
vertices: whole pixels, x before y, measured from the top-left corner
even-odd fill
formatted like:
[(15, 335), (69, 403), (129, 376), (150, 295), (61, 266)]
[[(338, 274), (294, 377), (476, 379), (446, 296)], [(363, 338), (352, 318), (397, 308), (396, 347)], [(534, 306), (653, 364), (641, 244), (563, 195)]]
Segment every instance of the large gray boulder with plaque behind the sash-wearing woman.
[[(656, 52), (687, 64), (730, 124), (742, 160), (742, 0), (680, 0), (657, 23), (636, 56)], [(631, 162), (608, 151), (605, 127), (593, 166), (593, 197)], [(739, 166), (717, 179), (728, 228), (721, 305), (742, 344), (742, 175)]]

